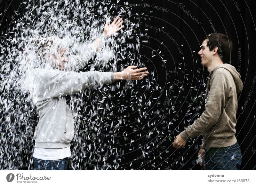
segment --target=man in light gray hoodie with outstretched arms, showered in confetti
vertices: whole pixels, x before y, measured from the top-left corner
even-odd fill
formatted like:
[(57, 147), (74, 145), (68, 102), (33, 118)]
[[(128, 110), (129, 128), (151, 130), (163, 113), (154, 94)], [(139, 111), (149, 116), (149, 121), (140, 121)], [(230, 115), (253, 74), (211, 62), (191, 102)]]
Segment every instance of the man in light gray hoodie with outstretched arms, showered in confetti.
[[(103, 37), (110, 37), (123, 28), (122, 19), (117, 20), (117, 18), (112, 24), (106, 24)], [(102, 38), (98, 38), (90, 48), (97, 51), (101, 43)], [(128, 66), (124, 71), (117, 73), (65, 72), (66, 49), (59, 45), (56, 38), (46, 39), (38, 51), (43, 53), (47, 58), (46, 61), (50, 61), (51, 66), (57, 69), (36, 68), (32, 72), (34, 87), (31, 96), (39, 116), (34, 134), (34, 169), (67, 170), (68, 157), (71, 156), (69, 146), (74, 137), (74, 120), (66, 104), (66, 96), (117, 80), (141, 80), (148, 72), (145, 71), (147, 68), (135, 69), (137, 66)], [(87, 59), (89, 59), (90, 52), (84, 52), (88, 53)]]

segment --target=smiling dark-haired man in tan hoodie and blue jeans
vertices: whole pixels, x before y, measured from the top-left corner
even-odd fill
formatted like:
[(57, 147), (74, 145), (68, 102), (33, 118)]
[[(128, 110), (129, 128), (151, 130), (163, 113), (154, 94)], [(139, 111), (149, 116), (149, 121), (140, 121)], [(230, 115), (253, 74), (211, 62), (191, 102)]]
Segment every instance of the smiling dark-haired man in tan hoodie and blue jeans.
[[(209, 74), (205, 110), (173, 142), (173, 147), (184, 148), (189, 138), (203, 135), (198, 152), (205, 170), (239, 170), (242, 153), (236, 140), (237, 94), (243, 83), (236, 68), (229, 61), (232, 42), (224, 34), (214, 33), (205, 37), (201, 50), (201, 64)], [(204, 163), (205, 162), (205, 163)]]

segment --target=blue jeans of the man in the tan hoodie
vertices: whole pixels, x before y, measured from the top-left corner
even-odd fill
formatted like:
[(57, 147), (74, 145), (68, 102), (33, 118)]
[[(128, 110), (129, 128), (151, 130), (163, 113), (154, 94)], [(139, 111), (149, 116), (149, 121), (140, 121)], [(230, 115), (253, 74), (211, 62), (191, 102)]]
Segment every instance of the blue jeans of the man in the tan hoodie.
[(204, 154), (205, 170), (240, 170), (242, 153), (239, 144), (225, 147), (213, 156), (209, 152)]

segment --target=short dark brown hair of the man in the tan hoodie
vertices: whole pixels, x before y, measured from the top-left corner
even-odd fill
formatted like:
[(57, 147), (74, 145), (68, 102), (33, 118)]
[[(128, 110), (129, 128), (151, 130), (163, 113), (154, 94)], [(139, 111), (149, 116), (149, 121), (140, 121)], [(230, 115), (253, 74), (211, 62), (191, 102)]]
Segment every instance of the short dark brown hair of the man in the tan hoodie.
[(207, 46), (209, 47), (210, 51), (214, 47), (218, 47), (218, 54), (220, 56), (220, 59), (224, 63), (230, 62), (230, 55), (233, 50), (233, 43), (230, 39), (228, 39), (227, 35), (221, 34), (221, 33), (213, 33), (210, 35), (207, 35), (204, 40), (207, 39)]

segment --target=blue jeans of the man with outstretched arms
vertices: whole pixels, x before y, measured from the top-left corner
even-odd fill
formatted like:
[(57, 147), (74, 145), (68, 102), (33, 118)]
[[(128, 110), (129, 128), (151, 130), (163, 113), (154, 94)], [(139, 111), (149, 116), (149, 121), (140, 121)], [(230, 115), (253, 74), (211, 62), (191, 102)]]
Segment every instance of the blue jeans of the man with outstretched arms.
[(68, 158), (58, 160), (43, 160), (33, 157), (34, 170), (67, 170)]

